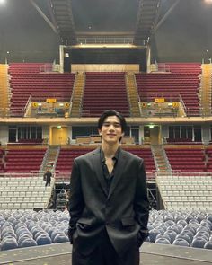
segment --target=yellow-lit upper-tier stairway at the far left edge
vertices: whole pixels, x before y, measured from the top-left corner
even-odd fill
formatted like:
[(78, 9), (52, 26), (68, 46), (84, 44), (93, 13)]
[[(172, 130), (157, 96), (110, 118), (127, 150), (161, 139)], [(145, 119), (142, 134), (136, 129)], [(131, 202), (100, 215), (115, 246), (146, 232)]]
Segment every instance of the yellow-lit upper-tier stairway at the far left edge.
[(9, 90), (7, 65), (0, 65), (0, 115), (9, 114)]

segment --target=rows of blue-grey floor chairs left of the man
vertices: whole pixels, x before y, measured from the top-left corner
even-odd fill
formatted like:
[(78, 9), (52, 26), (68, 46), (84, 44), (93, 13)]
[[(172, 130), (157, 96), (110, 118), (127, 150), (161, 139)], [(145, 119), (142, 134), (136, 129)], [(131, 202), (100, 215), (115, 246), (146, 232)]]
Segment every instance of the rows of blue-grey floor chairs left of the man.
[(51, 243), (66, 243), (69, 241), (68, 221), (68, 212), (22, 209), (0, 211), (0, 249), (8, 251)]

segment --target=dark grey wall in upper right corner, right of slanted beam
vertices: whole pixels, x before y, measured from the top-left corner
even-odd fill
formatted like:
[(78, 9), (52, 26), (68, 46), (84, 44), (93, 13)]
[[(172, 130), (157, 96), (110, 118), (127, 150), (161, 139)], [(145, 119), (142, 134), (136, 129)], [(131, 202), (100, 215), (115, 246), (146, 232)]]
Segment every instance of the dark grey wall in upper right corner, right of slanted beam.
[(178, 4), (152, 41), (152, 58), (158, 62), (208, 63), (212, 57), (212, 4), (183, 0)]

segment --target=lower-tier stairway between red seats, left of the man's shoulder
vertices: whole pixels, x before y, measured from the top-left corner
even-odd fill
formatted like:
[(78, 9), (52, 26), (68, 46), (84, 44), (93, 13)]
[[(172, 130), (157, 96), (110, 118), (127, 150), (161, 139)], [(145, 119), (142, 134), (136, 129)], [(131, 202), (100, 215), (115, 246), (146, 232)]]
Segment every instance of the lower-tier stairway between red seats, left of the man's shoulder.
[(46, 155), (44, 156), (43, 163), (41, 165), (41, 172), (55, 171), (57, 157), (59, 155), (59, 146), (49, 146)]

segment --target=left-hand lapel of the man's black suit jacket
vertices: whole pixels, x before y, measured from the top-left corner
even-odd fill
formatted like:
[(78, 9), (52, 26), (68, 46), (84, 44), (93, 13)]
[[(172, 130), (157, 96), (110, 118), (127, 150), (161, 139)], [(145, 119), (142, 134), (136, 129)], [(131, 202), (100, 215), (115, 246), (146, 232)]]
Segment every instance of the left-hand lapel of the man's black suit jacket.
[(105, 195), (108, 196), (107, 183), (104, 180), (102, 174), (102, 165), (100, 161), (100, 147), (98, 147), (93, 151), (92, 163), (93, 163), (94, 172), (96, 173), (97, 179), (100, 181), (102, 190), (105, 193)]

